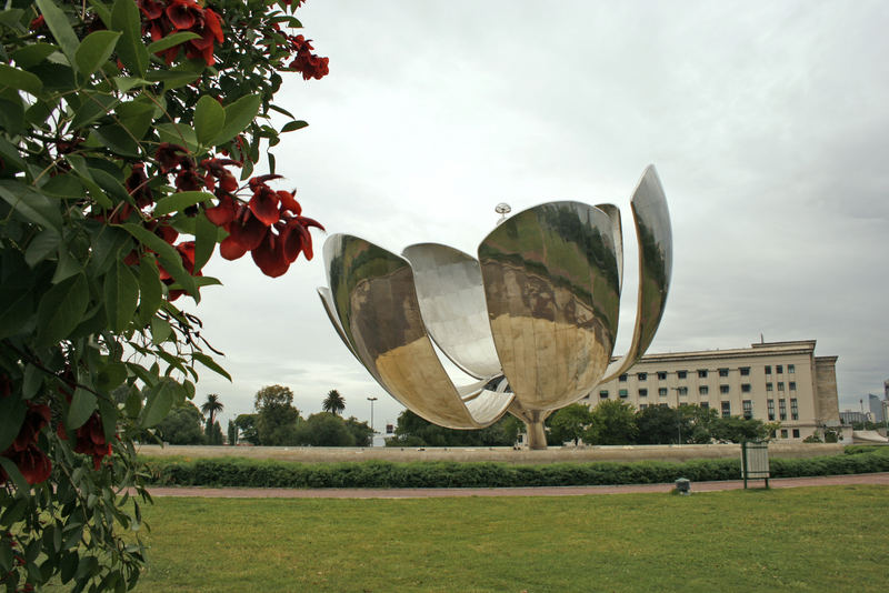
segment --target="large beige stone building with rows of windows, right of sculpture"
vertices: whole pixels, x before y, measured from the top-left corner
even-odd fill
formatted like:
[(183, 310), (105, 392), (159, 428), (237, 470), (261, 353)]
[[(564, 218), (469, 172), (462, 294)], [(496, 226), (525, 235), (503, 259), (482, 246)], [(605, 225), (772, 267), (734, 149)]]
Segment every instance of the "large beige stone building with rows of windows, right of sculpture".
[(815, 355), (815, 340), (647, 354), (583, 401), (595, 406), (620, 399), (637, 409), (708, 406), (722, 416), (779, 421), (778, 439), (802, 440), (840, 425), (836, 364), (837, 356)]

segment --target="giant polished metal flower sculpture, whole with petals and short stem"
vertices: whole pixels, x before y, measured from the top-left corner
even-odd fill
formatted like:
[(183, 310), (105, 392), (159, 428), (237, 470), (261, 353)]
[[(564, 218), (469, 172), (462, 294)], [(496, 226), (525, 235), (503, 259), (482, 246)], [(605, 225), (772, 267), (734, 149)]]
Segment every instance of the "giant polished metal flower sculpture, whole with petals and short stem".
[[(480, 429), (507, 411), (545, 449), (543, 421), (623, 373), (658, 329), (672, 268), (667, 201), (648, 167), (630, 202), (639, 295), (629, 351), (612, 360), (623, 273), (620, 211), (549, 202), (506, 219), (478, 260), (436, 243), (402, 255), (348, 234), (324, 244), (321, 301), (379, 384), (430, 422)], [(476, 379), (456, 385), (436, 349)]]

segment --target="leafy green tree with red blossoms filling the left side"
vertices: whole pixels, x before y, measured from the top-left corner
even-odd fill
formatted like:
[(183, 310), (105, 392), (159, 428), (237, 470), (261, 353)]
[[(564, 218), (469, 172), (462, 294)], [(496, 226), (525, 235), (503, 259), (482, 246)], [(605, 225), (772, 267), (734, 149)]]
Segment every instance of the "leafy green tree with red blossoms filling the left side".
[[(0, 9), (0, 580), (124, 591), (140, 574), (133, 439), (228, 376), (174, 301), (216, 245), (267, 275), (310, 227), (261, 143), (306, 123), (278, 71), (327, 73), (299, 2), (10, 0)], [(292, 61), (289, 61), (291, 60)], [(276, 129), (269, 115), (290, 121)], [(269, 155), (271, 173), (274, 160)], [(240, 180), (233, 170), (238, 170)], [(214, 423), (211, 425), (216, 426)], [(216, 429), (214, 429), (216, 430)], [(136, 496), (118, 497), (134, 488)], [(126, 539), (122, 531), (131, 531)]]

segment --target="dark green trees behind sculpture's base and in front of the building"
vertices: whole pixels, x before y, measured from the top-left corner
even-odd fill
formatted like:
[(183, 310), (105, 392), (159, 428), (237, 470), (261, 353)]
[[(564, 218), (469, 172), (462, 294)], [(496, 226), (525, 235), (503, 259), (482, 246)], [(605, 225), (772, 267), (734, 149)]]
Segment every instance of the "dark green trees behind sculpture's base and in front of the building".
[[(766, 440), (778, 423), (741, 416), (721, 418), (716, 410), (698, 405), (667, 408), (650, 405), (636, 410), (620, 400), (608, 400), (590, 409), (575, 403), (546, 421), (550, 445), (566, 442), (601, 445), (690, 444)], [(482, 430), (451, 430), (437, 426), (406, 410), (398, 418), (394, 436), (387, 446), (510, 446), (523, 424), (506, 415)]]

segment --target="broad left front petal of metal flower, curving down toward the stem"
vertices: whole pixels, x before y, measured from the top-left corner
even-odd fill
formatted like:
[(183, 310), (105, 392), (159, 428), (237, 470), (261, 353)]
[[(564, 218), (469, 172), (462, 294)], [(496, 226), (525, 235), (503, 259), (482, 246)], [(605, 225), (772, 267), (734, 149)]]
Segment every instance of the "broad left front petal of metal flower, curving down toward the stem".
[[(393, 398), (430, 422), (455, 429), (482, 428), (506, 412), (511, 394), (486, 390), (485, 381), (461, 393), (451, 382), (426, 332), (407, 260), (362, 239), (334, 234), (324, 243), (324, 261), (346, 342)], [(469, 406), (465, 396), (477, 403)]]

